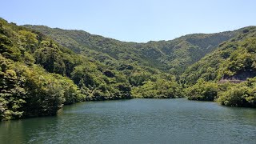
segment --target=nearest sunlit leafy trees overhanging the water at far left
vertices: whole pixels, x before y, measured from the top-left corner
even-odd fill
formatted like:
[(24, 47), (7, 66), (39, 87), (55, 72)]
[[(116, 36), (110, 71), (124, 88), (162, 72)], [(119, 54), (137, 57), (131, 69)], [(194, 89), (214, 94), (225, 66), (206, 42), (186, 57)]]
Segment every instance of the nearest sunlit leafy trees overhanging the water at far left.
[(82, 99), (78, 86), (38, 66), (25, 66), (0, 55), (0, 118), (54, 115), (63, 103)]

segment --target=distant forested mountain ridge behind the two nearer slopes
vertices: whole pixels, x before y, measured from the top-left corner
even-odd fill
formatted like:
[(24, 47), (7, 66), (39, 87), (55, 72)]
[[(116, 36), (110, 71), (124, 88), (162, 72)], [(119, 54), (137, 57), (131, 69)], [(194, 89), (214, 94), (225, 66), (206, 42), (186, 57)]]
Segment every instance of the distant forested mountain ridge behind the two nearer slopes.
[(171, 41), (160, 42), (120, 42), (112, 38), (89, 34), (82, 30), (62, 30), (47, 26), (26, 27), (38, 30), (77, 53), (91, 57), (106, 64), (119, 62), (138, 62), (141, 66), (151, 66), (158, 70), (181, 74), (187, 66), (215, 50), (223, 41), (233, 38), (237, 31), (217, 34), (190, 34)]

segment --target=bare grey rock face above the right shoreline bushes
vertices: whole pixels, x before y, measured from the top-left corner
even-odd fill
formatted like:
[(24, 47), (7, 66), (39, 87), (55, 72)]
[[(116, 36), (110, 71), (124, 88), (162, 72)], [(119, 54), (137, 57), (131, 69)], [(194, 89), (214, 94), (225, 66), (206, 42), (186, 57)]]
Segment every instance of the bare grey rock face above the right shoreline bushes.
[(234, 74), (233, 76), (224, 75), (219, 83), (224, 82), (232, 82), (232, 83), (240, 83), (246, 81), (247, 78), (254, 78), (256, 77), (256, 72), (254, 71), (242, 71), (238, 74)]

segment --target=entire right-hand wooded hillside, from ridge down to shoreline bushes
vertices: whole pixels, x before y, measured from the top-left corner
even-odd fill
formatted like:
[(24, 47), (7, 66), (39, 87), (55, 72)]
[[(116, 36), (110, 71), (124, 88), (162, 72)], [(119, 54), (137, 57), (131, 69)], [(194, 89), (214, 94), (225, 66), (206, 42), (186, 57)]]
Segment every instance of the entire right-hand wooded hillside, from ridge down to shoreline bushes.
[(255, 71), (256, 28), (251, 26), (190, 66), (182, 82), (189, 87), (186, 94), (190, 99), (255, 107)]

